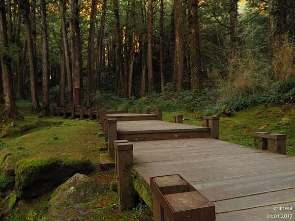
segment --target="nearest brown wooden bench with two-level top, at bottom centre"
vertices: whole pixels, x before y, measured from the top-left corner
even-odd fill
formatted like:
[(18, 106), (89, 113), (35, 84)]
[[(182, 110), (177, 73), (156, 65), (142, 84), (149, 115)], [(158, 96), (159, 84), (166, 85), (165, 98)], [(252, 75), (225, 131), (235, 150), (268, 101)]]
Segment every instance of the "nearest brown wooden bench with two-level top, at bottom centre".
[(215, 221), (215, 205), (180, 175), (150, 177), (154, 221)]

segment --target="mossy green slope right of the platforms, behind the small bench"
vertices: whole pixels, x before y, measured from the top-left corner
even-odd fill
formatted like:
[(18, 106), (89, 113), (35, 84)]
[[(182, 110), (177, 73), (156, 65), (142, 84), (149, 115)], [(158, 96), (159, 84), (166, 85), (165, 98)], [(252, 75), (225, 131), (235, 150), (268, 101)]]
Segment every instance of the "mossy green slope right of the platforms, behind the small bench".
[[(164, 112), (163, 119), (172, 122), (176, 113), (183, 114), (186, 124), (202, 125), (202, 119), (196, 118), (198, 113), (189, 111)], [(253, 133), (256, 131), (286, 134), (287, 154), (295, 156), (295, 105), (258, 106), (220, 118), (222, 140), (254, 147)]]

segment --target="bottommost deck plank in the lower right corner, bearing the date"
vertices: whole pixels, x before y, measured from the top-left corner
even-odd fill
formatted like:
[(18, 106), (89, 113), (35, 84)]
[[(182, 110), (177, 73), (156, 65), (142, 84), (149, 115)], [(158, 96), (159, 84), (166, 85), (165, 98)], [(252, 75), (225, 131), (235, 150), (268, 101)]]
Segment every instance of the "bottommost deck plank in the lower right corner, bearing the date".
[[(279, 204), (277, 206), (284, 206), (284, 207), (292, 207), (292, 211), (278, 211), (274, 210), (276, 205), (265, 206), (265, 207), (258, 207), (254, 209), (248, 210), (241, 210), (236, 212), (224, 213), (224, 214), (217, 214), (216, 221), (268, 221), (268, 220), (275, 220), (275, 221), (283, 221), (283, 220), (295, 220), (295, 202)], [(281, 219), (281, 218), (267, 218), (268, 215), (289, 215), (289, 218)], [(290, 218), (291, 217), (291, 218)]]

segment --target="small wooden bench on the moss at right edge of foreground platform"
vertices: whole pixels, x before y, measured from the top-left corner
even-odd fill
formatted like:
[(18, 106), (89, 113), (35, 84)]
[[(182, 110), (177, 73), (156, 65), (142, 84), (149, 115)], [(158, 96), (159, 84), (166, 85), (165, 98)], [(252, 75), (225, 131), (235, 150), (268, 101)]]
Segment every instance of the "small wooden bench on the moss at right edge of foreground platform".
[(268, 132), (255, 132), (255, 147), (263, 150), (269, 150), (280, 154), (286, 154), (286, 138), (285, 134), (271, 134)]

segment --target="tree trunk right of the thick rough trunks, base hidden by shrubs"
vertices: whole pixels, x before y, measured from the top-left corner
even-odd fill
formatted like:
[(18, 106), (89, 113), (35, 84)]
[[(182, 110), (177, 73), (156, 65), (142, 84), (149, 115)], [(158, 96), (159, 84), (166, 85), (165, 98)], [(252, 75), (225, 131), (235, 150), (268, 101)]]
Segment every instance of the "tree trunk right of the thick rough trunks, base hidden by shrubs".
[(234, 59), (237, 53), (236, 51), (236, 28), (237, 28), (237, 2), (238, 0), (232, 0), (231, 2), (231, 10), (230, 10), (230, 19), (231, 19), (231, 39), (230, 39), (230, 50), (231, 50), (231, 58)]

